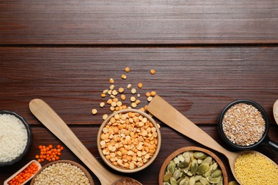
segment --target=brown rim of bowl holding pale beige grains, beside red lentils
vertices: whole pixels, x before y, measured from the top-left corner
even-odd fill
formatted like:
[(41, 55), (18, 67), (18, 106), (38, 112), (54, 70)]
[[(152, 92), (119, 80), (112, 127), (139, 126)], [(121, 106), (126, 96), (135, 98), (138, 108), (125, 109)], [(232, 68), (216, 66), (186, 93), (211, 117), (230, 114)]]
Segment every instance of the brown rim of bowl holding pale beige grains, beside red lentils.
[(51, 166), (52, 164), (57, 164), (57, 163), (68, 163), (68, 164), (72, 164), (73, 166), (77, 166), (79, 169), (81, 169), (84, 172), (86, 177), (89, 179), (90, 184), (94, 185), (93, 178), (92, 178), (91, 174), (81, 164), (78, 164), (77, 162), (73, 162), (73, 161), (70, 161), (70, 160), (58, 160), (56, 162), (50, 162), (50, 163), (44, 165), (40, 170), (38, 170), (38, 172), (33, 177), (32, 181), (31, 181), (31, 185), (34, 185), (34, 181), (36, 179), (36, 176), (38, 176), (38, 174), (40, 174), (41, 171), (43, 171), (43, 169), (46, 169), (48, 166)]

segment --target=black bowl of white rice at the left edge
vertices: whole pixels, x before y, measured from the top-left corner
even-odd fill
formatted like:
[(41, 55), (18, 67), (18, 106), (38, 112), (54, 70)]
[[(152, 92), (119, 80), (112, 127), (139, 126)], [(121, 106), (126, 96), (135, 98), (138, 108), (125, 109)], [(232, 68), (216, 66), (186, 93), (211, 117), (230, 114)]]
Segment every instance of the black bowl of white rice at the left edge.
[(31, 146), (31, 128), (23, 117), (0, 111), (0, 166), (19, 162)]

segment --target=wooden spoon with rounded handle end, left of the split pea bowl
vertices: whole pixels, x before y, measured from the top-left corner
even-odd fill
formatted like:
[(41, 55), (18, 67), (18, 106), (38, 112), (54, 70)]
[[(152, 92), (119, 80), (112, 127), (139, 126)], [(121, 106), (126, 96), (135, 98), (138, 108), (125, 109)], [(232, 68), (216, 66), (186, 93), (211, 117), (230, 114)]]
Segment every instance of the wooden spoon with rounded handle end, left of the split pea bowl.
[(105, 169), (46, 102), (40, 99), (31, 100), (31, 102), (29, 102), (29, 108), (43, 125), (56, 135), (61, 142), (66, 144), (66, 146), (71, 149), (71, 151), (76, 154), (96, 176), (98, 176), (101, 184), (121, 184), (121, 181), (133, 181), (140, 184), (140, 182), (135, 179), (119, 176)]

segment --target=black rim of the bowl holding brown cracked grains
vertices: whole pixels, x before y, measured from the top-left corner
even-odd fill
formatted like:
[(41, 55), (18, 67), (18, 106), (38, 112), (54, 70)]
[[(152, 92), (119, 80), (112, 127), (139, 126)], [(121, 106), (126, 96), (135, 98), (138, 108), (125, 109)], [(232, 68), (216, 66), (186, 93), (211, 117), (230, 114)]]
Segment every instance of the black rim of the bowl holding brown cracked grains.
[[(232, 107), (233, 105), (237, 105), (239, 103), (246, 103), (248, 105), (252, 105), (253, 107), (257, 108), (257, 110), (259, 110), (259, 112), (261, 112), (262, 118), (264, 119), (264, 122), (265, 122), (264, 134), (262, 135), (262, 138), (259, 139), (258, 142), (254, 143), (252, 145), (249, 145), (249, 146), (240, 146), (238, 144), (232, 143), (230, 141), (230, 139), (228, 139), (226, 137), (226, 135), (222, 129), (223, 128), (222, 120), (223, 120), (225, 113), (227, 112), (227, 110), (230, 109), (230, 107)], [(253, 100), (245, 100), (245, 99), (235, 100), (235, 101), (230, 102), (228, 105), (226, 105), (223, 108), (222, 112), (220, 113), (220, 117), (218, 118), (218, 124), (217, 124), (217, 131), (220, 134), (220, 137), (224, 140), (224, 142), (226, 144), (228, 144), (230, 147), (233, 147), (234, 149), (237, 149), (237, 150), (255, 149), (256, 147), (258, 147), (259, 144), (262, 144), (262, 142), (264, 142), (264, 140), (268, 138), (268, 129), (269, 129), (269, 119), (267, 117), (267, 112), (264, 110), (264, 108), (261, 105), (259, 105), (259, 103), (254, 102)]]

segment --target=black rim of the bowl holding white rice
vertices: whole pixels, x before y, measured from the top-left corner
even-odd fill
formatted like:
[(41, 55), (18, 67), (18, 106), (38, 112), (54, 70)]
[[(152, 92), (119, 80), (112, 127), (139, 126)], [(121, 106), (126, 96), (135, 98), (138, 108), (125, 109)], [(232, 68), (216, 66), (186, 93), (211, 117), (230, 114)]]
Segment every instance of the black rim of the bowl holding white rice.
[(26, 128), (26, 131), (27, 131), (27, 138), (28, 139), (27, 139), (27, 143), (26, 143), (26, 147), (25, 147), (24, 151), (18, 157), (16, 157), (15, 159), (13, 159), (9, 162), (0, 162), (0, 167), (1, 166), (11, 166), (12, 164), (15, 164), (16, 162), (19, 162), (27, 154), (27, 152), (29, 152), (29, 149), (30, 149), (31, 143), (32, 143), (31, 127), (28, 124), (28, 122), (26, 122), (24, 117), (17, 114), (16, 112), (12, 112), (12, 111), (9, 111), (9, 110), (0, 110), (0, 115), (14, 115), (16, 118), (21, 120), (22, 124), (24, 125), (24, 127)]

